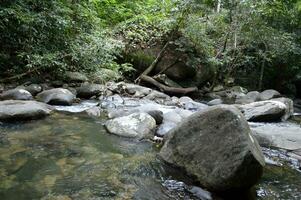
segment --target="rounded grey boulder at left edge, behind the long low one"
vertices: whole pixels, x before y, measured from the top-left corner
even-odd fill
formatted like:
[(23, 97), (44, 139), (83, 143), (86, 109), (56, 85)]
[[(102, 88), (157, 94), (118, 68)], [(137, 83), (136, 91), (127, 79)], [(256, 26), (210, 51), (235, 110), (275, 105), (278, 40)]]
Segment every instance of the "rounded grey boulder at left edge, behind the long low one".
[(4, 91), (0, 95), (0, 100), (32, 100), (33, 97), (27, 90), (24, 89), (12, 89)]

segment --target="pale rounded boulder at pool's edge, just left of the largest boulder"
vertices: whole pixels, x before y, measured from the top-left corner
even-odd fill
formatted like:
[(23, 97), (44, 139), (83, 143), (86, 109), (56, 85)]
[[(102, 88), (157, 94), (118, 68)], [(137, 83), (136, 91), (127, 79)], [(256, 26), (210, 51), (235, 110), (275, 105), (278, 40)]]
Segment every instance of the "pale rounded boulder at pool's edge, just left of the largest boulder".
[(133, 113), (108, 120), (105, 127), (112, 134), (141, 139), (156, 128), (156, 120), (147, 113)]

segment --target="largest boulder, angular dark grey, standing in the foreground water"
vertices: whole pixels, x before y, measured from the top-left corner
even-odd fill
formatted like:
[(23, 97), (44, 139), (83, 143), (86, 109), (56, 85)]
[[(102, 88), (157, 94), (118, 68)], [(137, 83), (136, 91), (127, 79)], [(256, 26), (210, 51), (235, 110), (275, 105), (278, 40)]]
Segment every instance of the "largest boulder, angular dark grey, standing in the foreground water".
[(159, 156), (209, 190), (248, 189), (262, 175), (265, 162), (260, 147), (247, 121), (233, 106), (197, 112), (169, 135)]

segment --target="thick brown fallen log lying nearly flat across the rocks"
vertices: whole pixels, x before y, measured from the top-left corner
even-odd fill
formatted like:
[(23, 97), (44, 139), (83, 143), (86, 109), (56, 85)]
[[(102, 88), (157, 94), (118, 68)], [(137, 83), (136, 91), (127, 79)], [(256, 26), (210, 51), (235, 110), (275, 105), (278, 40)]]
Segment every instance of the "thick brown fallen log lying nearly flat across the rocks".
[(158, 87), (162, 92), (168, 93), (168, 94), (181, 94), (186, 95), (188, 93), (196, 92), (198, 90), (197, 87), (190, 87), (190, 88), (176, 88), (176, 87), (169, 87), (166, 86), (155, 79), (153, 79), (150, 76), (147, 75), (141, 75), (140, 80), (150, 83), (156, 87)]

